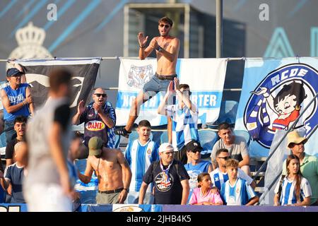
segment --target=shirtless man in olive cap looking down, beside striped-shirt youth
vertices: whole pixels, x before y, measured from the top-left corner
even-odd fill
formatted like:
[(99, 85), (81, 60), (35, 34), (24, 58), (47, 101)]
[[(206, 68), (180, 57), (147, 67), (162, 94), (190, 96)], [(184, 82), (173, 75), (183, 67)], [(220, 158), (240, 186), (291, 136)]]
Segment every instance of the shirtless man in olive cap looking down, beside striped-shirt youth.
[(88, 184), (95, 171), (98, 177), (96, 203), (124, 203), (129, 192), (131, 170), (121, 150), (105, 148), (98, 136), (90, 138), (88, 148), (85, 173), (78, 172), (79, 179)]

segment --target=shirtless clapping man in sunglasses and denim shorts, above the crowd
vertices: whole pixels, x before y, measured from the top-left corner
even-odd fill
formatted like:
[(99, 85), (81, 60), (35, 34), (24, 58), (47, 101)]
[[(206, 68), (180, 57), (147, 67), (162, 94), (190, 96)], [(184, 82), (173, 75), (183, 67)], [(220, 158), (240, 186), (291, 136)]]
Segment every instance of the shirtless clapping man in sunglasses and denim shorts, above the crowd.
[[(139, 92), (139, 95), (135, 98), (131, 105), (129, 119), (126, 126), (121, 129), (117, 129), (115, 131), (116, 134), (128, 138), (129, 133), (131, 133), (132, 126), (134, 126), (134, 121), (138, 117), (141, 105), (147, 100), (151, 99), (151, 97), (155, 96), (155, 94), (158, 92), (165, 92), (170, 81), (173, 81), (174, 78), (177, 78), (175, 67), (179, 54), (180, 42), (177, 37), (172, 37), (169, 35), (172, 25), (173, 22), (170, 18), (167, 18), (166, 16), (160, 18), (158, 21), (160, 37), (153, 37), (148, 47), (146, 47), (148, 36), (144, 37), (143, 32), (139, 32), (139, 59), (146, 59), (146, 57), (148, 57), (149, 54), (151, 54), (151, 52), (153, 52), (155, 49), (157, 55), (157, 71), (151, 80), (143, 85), (143, 90)], [(171, 142), (170, 131), (172, 129), (172, 121), (170, 117), (167, 119), (168, 136)]]

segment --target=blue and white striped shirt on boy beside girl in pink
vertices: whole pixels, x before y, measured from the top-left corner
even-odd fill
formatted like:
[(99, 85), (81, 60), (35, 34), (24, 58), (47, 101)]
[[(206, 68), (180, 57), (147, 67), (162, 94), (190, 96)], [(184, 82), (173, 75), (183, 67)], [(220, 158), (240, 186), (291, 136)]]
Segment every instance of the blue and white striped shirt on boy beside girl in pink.
[(256, 196), (254, 190), (247, 184), (245, 179), (238, 177), (233, 186), (230, 185), (229, 180), (222, 184), (220, 195), (223, 202), (228, 206), (243, 206)]

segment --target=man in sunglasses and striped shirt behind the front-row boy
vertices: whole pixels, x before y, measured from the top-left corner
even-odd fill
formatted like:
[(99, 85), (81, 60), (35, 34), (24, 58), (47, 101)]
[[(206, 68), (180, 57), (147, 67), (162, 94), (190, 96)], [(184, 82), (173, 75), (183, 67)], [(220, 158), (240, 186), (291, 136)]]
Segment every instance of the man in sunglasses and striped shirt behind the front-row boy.
[[(218, 167), (210, 172), (211, 180), (213, 186), (216, 186), (220, 191), (222, 185), (228, 181), (228, 172), (226, 172), (226, 161), (230, 159), (230, 154), (228, 153), (228, 149), (219, 149), (216, 151), (216, 162)], [(249, 177), (245, 172), (237, 168), (237, 177), (240, 179), (245, 179), (247, 184), (252, 186), (254, 189), (256, 184), (251, 177)]]

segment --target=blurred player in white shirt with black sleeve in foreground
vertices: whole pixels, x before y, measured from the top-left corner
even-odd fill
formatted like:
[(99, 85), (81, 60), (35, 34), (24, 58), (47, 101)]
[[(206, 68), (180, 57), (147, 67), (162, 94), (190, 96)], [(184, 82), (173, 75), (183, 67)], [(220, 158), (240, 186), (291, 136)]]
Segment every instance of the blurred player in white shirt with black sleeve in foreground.
[(49, 98), (28, 122), (28, 177), (23, 194), (28, 211), (72, 210), (71, 183), (66, 165), (71, 142), (71, 73), (49, 73)]

